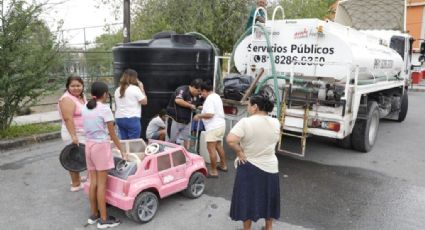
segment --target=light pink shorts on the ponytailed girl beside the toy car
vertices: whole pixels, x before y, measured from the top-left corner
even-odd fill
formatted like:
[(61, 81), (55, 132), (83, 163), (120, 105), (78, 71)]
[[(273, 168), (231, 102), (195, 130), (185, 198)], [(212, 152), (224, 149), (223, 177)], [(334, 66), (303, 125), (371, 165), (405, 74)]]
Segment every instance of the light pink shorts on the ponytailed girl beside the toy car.
[(111, 143), (86, 141), (86, 164), (88, 171), (104, 171), (114, 168)]

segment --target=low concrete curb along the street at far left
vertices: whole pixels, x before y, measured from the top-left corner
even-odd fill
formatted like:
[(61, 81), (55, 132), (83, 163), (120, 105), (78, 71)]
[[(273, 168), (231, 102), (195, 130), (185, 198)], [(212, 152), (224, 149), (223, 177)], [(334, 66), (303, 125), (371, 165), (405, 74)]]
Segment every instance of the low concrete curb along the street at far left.
[(51, 133), (37, 134), (37, 135), (28, 136), (28, 137), (21, 137), (21, 138), (6, 140), (6, 141), (0, 141), (0, 151), (57, 139), (57, 138), (60, 138), (60, 135), (61, 135), (61, 132), (56, 131)]

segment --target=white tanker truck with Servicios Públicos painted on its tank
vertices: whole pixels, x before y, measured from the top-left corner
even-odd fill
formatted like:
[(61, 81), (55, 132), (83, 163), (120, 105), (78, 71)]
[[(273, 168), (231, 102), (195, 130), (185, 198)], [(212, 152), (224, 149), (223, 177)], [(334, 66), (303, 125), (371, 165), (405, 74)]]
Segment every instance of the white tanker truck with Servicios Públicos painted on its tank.
[[(264, 9), (263, 9), (264, 10)], [(379, 120), (402, 122), (413, 39), (396, 31), (358, 31), (318, 19), (267, 20), (253, 26), (233, 51), (239, 73), (258, 76), (257, 91), (276, 101), (278, 149), (304, 156), (310, 135), (337, 139), (361, 152), (372, 149)], [(246, 101), (224, 99), (226, 119), (247, 116)], [(301, 150), (286, 148), (286, 136), (301, 139)]]

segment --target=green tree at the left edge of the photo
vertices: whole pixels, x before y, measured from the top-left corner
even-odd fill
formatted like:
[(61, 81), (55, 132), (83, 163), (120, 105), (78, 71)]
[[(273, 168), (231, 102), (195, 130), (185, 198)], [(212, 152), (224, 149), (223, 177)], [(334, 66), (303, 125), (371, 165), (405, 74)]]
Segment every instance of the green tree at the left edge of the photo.
[(39, 19), (41, 4), (0, 0), (0, 130), (21, 107), (55, 89), (49, 83), (58, 44)]

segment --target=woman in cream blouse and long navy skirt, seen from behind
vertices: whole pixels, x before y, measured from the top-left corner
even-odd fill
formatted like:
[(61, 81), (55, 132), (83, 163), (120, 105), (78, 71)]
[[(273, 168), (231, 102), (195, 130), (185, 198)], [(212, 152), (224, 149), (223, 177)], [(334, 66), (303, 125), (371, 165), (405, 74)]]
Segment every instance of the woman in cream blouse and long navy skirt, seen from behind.
[(280, 216), (279, 168), (275, 154), (280, 123), (268, 116), (274, 102), (267, 96), (250, 98), (248, 113), (227, 136), (236, 152), (237, 171), (233, 187), (230, 217), (243, 221), (251, 229), (252, 221), (265, 219), (265, 229), (272, 229), (272, 219)]

